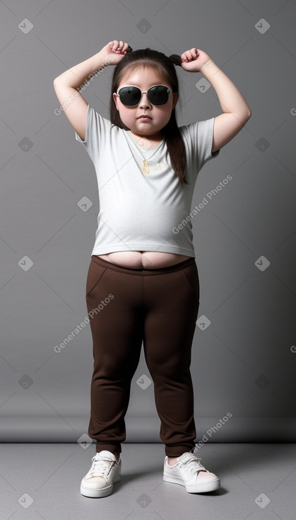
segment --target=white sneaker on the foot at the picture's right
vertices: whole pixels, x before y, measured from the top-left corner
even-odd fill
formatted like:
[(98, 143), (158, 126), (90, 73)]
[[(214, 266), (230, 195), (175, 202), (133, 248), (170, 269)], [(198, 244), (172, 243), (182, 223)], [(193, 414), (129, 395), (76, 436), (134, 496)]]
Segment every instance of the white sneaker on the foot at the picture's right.
[(186, 451), (177, 458), (174, 465), (169, 465), (167, 456), (165, 456), (163, 480), (173, 484), (181, 484), (186, 487), (188, 493), (217, 490), (220, 487), (220, 480), (215, 473), (206, 470), (199, 460), (201, 458), (197, 458), (190, 451)]

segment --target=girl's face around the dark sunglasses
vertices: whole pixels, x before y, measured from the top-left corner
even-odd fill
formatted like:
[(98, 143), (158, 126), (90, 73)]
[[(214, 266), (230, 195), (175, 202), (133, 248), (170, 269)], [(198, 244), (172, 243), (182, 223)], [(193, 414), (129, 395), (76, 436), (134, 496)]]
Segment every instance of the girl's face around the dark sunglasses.
[[(141, 91), (147, 91), (150, 86), (165, 85), (172, 91), (172, 86), (158, 70), (153, 67), (138, 67), (134, 71), (127, 72), (119, 84), (121, 86), (138, 86)], [(178, 94), (170, 93), (169, 101), (165, 105), (155, 106), (148, 101), (147, 94), (143, 94), (137, 106), (124, 106), (119, 96), (113, 94), (114, 102), (119, 110), (122, 123), (126, 125), (135, 135), (146, 136), (147, 138), (160, 138), (160, 130), (168, 123), (172, 110), (176, 106)], [(142, 120), (139, 116), (143, 113), (149, 115), (150, 119)]]

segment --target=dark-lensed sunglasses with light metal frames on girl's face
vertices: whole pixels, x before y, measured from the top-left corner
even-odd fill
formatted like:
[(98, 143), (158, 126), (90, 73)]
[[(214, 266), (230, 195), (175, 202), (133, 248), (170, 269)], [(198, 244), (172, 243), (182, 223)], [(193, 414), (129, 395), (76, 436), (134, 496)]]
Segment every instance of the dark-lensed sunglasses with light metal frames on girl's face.
[(124, 106), (136, 106), (140, 103), (143, 94), (147, 94), (152, 105), (162, 106), (169, 101), (170, 89), (165, 85), (153, 85), (146, 91), (141, 91), (138, 86), (122, 86), (117, 91), (120, 101)]

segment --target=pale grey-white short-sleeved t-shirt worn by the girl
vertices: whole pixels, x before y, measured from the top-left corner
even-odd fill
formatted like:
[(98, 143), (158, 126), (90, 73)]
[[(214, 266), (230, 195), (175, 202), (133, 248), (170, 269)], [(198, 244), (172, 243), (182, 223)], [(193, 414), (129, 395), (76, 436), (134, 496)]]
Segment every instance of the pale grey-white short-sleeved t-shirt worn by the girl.
[[(211, 118), (179, 127), (189, 183), (183, 185), (169, 154), (165, 158), (164, 140), (155, 149), (140, 147), (140, 152), (130, 130), (113, 125), (88, 105), (85, 140), (77, 132), (75, 135), (92, 159), (97, 176), (99, 214), (92, 254), (167, 251), (195, 258), (188, 215), (197, 174), (220, 152), (211, 154), (213, 124)], [(148, 160), (148, 174), (142, 172), (143, 159)], [(182, 221), (182, 229), (177, 228)]]

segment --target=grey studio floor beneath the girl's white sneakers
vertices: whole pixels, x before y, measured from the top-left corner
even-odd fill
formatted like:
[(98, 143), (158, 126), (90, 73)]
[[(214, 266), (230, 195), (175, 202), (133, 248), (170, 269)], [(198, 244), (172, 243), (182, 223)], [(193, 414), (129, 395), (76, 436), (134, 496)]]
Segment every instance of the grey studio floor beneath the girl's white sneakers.
[(122, 480), (109, 497), (83, 497), (95, 444), (0, 445), (1, 520), (295, 520), (293, 443), (206, 443), (196, 452), (219, 490), (189, 494), (162, 480), (163, 444), (122, 444)]

